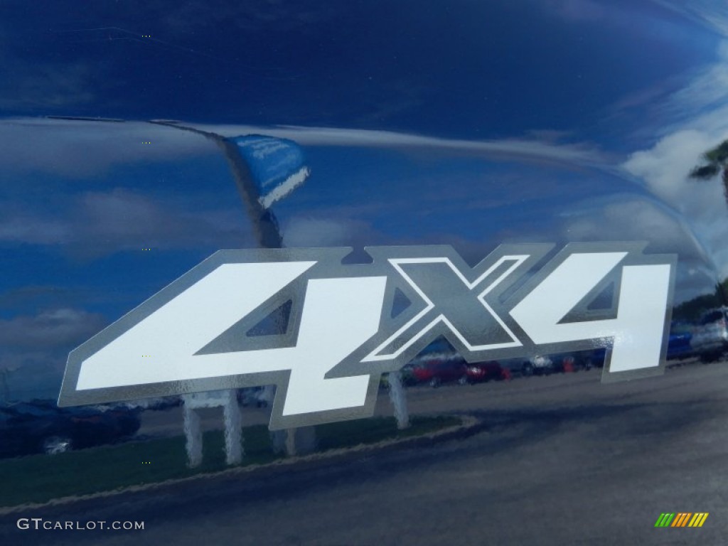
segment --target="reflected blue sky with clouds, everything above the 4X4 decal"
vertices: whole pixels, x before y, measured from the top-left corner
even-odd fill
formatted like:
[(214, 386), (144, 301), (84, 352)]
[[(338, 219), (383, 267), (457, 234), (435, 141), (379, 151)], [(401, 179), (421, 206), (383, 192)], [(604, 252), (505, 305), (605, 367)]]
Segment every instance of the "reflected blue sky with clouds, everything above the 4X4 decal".
[(728, 136), (719, 5), (7, 2), (0, 368), (57, 389), (68, 349), (254, 244), (209, 141), (46, 114), (296, 126), (268, 130), (313, 173), (274, 207), (290, 246), (451, 244), (474, 263), (499, 242), (646, 239), (680, 253), (679, 297), (711, 290), (724, 199), (686, 175)]

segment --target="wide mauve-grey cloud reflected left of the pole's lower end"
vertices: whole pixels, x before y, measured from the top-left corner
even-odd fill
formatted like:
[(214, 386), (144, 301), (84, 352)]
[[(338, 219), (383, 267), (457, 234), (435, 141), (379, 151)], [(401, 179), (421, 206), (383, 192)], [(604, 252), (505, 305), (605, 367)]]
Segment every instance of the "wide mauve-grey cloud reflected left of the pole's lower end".
[(0, 217), (0, 241), (63, 245), (80, 256), (143, 247), (240, 246), (246, 232), (242, 213), (199, 210), (197, 203), (157, 202), (124, 189), (90, 192), (76, 199), (67, 215), (45, 218), (7, 210)]

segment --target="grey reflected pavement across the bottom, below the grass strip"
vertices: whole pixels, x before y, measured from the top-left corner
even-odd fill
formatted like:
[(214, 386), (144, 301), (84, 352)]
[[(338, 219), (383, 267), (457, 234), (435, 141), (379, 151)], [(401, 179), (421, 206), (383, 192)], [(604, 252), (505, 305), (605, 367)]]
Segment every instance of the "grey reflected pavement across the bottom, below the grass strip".
[[(459, 440), (265, 478), (212, 478), (48, 507), (27, 517), (146, 522), (145, 531), (17, 531), (0, 542), (175, 545), (724, 544), (728, 365), (599, 384), (598, 371), (408, 391), (411, 408), (472, 411)], [(379, 411), (387, 409), (381, 396)], [(702, 529), (654, 529), (662, 512)]]

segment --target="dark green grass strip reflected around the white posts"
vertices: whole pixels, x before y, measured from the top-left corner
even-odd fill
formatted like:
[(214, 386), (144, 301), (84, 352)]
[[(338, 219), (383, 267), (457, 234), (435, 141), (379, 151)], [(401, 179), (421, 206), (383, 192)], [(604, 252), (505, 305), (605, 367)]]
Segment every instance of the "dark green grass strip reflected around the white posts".
[[(319, 425), (316, 436), (320, 451), (326, 451), (424, 435), (460, 422), (456, 417), (414, 417), (412, 426), (400, 431), (393, 418), (360, 419)], [(245, 428), (244, 446), (241, 466), (281, 458), (273, 453), (268, 430), (263, 425)], [(0, 460), (0, 507), (113, 491), (229, 468), (225, 464), (221, 431), (206, 432), (203, 447), (202, 464), (194, 470), (186, 467), (182, 437)]]

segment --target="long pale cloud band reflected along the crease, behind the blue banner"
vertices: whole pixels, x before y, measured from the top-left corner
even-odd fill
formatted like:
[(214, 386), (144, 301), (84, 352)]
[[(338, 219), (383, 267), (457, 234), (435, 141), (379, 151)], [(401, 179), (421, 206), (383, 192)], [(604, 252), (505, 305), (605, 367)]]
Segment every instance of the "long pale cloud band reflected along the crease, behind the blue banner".
[[(193, 124), (189, 124), (192, 126)], [(587, 144), (555, 143), (544, 138), (464, 141), (404, 132), (333, 127), (258, 127), (255, 125), (194, 125), (224, 136), (270, 135), (290, 138), (303, 146), (359, 146), (411, 151), (447, 151), (470, 156), (557, 162), (604, 167), (609, 157)], [(215, 145), (189, 131), (143, 122), (80, 122), (51, 119), (0, 121), (0, 165), (4, 169), (91, 176), (113, 165), (210, 154)], [(151, 141), (151, 145), (143, 144)]]

